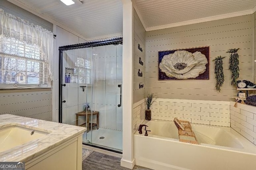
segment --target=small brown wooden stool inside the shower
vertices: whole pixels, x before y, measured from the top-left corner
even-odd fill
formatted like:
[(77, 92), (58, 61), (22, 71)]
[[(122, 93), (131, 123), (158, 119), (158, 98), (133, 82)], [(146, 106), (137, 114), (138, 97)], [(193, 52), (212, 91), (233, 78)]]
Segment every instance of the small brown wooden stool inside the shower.
[[(82, 125), (78, 125), (78, 117), (79, 116), (83, 116), (83, 117), (86, 117), (86, 111), (82, 111), (82, 112), (79, 112), (79, 113), (76, 113), (76, 126), (80, 126), (80, 127), (86, 127), (87, 128), (87, 132), (89, 132), (89, 128), (91, 127), (90, 125), (92, 124), (92, 127), (94, 126), (97, 126), (97, 129), (99, 129), (99, 112), (98, 111), (94, 111), (94, 112), (91, 112), (91, 111), (87, 111), (87, 121), (86, 123), (82, 124)], [(89, 117), (90, 116), (93, 116), (93, 115), (96, 115), (97, 116), (97, 123), (89, 123)]]

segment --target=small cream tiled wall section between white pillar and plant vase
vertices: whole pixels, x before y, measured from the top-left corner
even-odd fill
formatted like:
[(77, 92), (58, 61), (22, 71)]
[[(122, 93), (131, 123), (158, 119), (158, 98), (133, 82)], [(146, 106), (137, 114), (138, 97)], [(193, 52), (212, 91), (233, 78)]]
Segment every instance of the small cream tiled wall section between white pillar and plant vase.
[(145, 120), (146, 103), (145, 99), (142, 99), (133, 104), (132, 110), (132, 133), (138, 130), (139, 126)]

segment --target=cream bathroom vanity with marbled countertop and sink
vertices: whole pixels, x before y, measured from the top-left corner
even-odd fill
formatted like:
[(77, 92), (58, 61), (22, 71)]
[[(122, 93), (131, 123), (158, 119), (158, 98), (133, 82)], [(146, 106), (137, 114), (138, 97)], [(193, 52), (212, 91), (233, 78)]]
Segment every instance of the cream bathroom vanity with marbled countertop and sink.
[(84, 127), (0, 115), (0, 162), (25, 162), (26, 170), (82, 170)]

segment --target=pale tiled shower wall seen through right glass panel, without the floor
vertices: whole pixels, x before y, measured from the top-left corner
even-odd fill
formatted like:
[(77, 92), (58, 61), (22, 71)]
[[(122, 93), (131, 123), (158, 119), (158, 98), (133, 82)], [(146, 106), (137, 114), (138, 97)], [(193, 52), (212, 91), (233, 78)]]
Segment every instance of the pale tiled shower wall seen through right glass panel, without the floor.
[(122, 130), (120, 87), (122, 84), (122, 45), (93, 48), (93, 109), (100, 112), (100, 127)]

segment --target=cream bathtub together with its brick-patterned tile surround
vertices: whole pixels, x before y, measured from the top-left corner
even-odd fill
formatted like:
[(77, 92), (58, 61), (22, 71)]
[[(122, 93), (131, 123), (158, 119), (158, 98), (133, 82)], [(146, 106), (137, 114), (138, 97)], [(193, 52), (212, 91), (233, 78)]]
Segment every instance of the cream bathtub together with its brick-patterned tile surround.
[[(143, 134), (138, 134), (138, 130), (136, 130), (134, 133), (136, 164), (153, 169), (160, 167), (160, 169), (166, 170), (185, 168), (197, 170), (244, 168), (254, 170), (256, 166), (255, 161), (253, 161), (256, 157), (256, 107), (240, 103), (238, 107), (234, 107), (234, 104), (232, 101), (157, 99), (151, 108), (152, 120), (149, 122), (163, 122), (163, 124), (153, 125), (149, 123), (148, 130), (151, 132), (148, 136), (144, 136), (144, 131)], [(140, 122), (143, 114), (145, 114), (143, 109), (140, 109), (143, 106), (142, 101), (134, 105), (135, 126), (138, 123), (147, 124), (145, 121)], [(198, 131), (199, 127), (208, 128), (202, 128), (202, 132), (206, 132), (206, 136), (217, 135), (215, 137), (209, 136), (211, 139), (221, 141), (224, 144), (232, 143), (240, 146), (212, 145), (202, 141), (199, 145), (179, 142), (178, 138), (173, 137), (177, 131), (176, 127), (174, 126), (173, 132), (170, 128), (174, 117), (190, 121), (195, 131)], [(211, 132), (212, 130), (216, 131)], [(159, 132), (164, 134), (158, 134)], [(202, 136), (199, 135), (198, 137)], [(154, 146), (154, 150), (148, 150), (147, 148), (150, 146)], [(190, 161), (184, 162), (179, 159), (186, 156)], [(218, 162), (218, 164), (212, 164), (212, 162)]]

